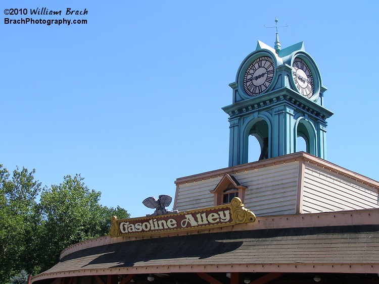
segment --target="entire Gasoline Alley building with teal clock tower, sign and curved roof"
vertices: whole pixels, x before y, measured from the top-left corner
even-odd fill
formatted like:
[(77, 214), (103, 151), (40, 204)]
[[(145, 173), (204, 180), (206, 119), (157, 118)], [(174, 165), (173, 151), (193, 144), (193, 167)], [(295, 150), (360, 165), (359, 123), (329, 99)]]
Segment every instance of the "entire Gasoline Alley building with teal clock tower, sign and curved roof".
[(327, 161), (333, 112), (303, 43), (258, 41), (229, 86), (228, 167), (178, 178), (178, 213), (113, 217), (109, 236), (65, 249), (31, 282), (378, 283), (379, 182)]

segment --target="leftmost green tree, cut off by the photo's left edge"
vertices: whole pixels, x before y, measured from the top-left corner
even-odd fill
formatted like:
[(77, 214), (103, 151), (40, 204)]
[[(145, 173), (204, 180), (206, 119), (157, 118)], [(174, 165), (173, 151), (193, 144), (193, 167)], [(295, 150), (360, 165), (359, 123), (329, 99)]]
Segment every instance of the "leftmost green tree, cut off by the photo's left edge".
[[(40, 214), (35, 201), (41, 184), (34, 180), (35, 170), (15, 169), (10, 173), (0, 165), (0, 282), (22, 268), (38, 272), (38, 250), (40, 239)], [(30, 257), (33, 256), (33, 257)]]

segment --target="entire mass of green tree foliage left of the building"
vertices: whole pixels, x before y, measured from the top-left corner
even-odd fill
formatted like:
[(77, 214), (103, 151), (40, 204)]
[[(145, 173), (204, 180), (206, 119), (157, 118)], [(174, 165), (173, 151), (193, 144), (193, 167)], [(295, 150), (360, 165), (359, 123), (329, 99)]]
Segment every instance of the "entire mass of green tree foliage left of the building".
[(1, 283), (21, 279), (23, 269), (36, 274), (50, 268), (66, 247), (107, 235), (113, 215), (129, 217), (119, 206), (102, 206), (101, 192), (88, 189), (80, 175), (41, 188), (34, 174), (17, 168), (11, 178), (0, 164)]

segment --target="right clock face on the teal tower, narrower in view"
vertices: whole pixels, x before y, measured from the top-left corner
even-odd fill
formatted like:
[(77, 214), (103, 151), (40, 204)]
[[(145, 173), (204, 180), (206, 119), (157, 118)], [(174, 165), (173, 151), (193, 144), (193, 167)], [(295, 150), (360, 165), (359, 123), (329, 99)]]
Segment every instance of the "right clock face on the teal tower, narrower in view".
[(310, 98), (314, 91), (313, 76), (308, 65), (300, 58), (295, 58), (292, 64), (292, 77), (299, 92)]

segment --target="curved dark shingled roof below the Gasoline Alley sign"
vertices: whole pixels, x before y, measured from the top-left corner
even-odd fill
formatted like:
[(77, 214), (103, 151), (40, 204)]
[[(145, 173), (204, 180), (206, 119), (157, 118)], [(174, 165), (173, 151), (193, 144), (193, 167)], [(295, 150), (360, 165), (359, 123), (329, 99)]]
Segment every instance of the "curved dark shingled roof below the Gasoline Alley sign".
[(45, 271), (155, 265), (379, 263), (379, 225), (234, 231), (87, 248)]

